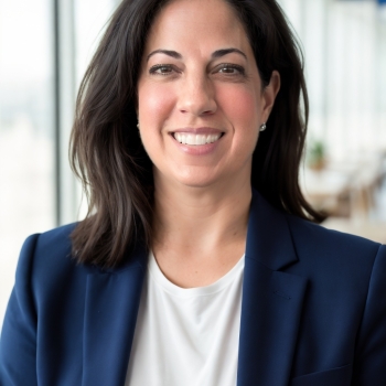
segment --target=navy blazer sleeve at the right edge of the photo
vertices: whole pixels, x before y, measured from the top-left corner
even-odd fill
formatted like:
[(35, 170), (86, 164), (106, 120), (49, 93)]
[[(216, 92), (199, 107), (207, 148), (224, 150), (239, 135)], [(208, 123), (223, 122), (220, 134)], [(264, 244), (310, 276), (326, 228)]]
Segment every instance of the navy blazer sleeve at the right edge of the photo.
[(386, 246), (379, 247), (373, 266), (352, 385), (386, 385)]

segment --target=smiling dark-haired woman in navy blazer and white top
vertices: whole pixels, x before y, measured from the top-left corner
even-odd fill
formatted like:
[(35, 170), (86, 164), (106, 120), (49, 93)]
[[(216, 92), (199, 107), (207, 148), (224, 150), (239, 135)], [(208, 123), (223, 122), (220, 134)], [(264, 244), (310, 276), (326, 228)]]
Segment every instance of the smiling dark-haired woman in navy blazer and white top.
[(307, 115), (275, 0), (124, 1), (77, 101), (89, 213), (25, 242), (2, 385), (385, 385), (386, 248), (309, 221)]

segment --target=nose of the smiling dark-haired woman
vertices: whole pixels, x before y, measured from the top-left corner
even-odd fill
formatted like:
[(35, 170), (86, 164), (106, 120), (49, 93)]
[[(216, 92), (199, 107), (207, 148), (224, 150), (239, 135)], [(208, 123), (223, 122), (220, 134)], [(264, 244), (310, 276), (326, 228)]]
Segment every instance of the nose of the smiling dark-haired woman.
[(200, 117), (212, 115), (217, 109), (214, 87), (206, 76), (186, 77), (179, 94), (178, 109), (183, 114)]

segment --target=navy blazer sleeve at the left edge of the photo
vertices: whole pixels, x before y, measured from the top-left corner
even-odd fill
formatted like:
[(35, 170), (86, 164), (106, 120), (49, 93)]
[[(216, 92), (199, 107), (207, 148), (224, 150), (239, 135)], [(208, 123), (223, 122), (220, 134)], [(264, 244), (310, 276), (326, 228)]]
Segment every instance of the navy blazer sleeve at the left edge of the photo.
[(20, 254), (15, 283), (0, 336), (0, 385), (37, 385), (36, 311), (31, 290), (33, 255), (39, 235), (30, 236)]

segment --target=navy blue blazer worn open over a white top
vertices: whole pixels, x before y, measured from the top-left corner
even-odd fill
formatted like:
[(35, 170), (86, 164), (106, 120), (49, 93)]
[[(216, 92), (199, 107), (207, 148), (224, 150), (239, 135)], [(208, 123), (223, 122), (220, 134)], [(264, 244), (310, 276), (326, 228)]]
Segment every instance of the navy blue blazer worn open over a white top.
[[(147, 253), (107, 271), (77, 265), (74, 226), (22, 248), (0, 341), (2, 386), (125, 384)], [(237, 386), (257, 385), (386, 385), (386, 247), (255, 193)]]

